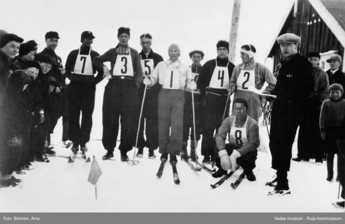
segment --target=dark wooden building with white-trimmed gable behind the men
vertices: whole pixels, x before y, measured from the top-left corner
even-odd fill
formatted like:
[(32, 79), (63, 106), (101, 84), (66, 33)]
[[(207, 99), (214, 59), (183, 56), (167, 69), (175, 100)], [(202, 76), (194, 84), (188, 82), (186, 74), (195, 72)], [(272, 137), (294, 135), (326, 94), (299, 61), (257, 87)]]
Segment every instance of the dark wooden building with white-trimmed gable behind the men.
[[(326, 59), (338, 54), (345, 58), (345, 0), (292, 0), (280, 23), (265, 58), (272, 58), (273, 72), (282, 57), (277, 37), (293, 33), (301, 38), (298, 52), (321, 53), (320, 66), (329, 69)], [(342, 65), (345, 72), (345, 66)]]

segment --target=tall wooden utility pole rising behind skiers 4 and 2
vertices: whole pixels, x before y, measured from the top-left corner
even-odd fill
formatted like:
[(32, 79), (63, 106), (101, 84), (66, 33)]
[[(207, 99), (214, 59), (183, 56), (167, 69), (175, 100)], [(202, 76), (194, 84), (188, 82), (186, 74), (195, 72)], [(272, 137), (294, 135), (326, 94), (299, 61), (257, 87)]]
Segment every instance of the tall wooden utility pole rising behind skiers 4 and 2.
[(241, 0), (234, 0), (233, 15), (231, 18), (231, 28), (229, 37), (229, 62), (235, 63), (237, 31), (239, 22), (239, 13), (241, 8)]

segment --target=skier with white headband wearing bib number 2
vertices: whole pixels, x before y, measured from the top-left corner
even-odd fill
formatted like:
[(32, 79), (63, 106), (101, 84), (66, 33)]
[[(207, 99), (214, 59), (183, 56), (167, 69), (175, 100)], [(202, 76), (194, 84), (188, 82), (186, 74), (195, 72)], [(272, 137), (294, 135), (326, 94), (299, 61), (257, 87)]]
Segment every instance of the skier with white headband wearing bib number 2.
[(243, 98), (248, 103), (248, 115), (259, 122), (261, 101), (259, 94), (248, 91), (249, 86), (260, 90), (265, 81), (265, 91), (271, 91), (276, 85), (276, 78), (265, 65), (255, 62), (256, 49), (253, 45), (243, 45), (240, 49), (242, 64), (236, 65), (231, 75), (229, 90), (234, 93), (234, 100)]

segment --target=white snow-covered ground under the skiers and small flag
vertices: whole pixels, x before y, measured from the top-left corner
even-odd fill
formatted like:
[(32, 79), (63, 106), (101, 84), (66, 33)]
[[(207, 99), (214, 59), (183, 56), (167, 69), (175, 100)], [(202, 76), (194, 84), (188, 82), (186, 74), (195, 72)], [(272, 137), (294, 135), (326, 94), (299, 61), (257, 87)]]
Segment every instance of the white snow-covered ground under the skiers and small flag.
[[(115, 161), (103, 161), (105, 150), (100, 141), (102, 136), (102, 96), (106, 81), (97, 86), (96, 106), (93, 114), (93, 129), (88, 143), (87, 155), (95, 155), (102, 169), (102, 176), (95, 188), (87, 179), (91, 163), (76, 159), (69, 164), (66, 158), (50, 157), (50, 163), (33, 162), (33, 170), (25, 175), (16, 175), (23, 180), (22, 187), (0, 188), (1, 212), (343, 212), (331, 202), (337, 199), (338, 183), (326, 181), (326, 163), (322, 166), (310, 162), (291, 162), (288, 174), (292, 194), (267, 196), (270, 187), (264, 186), (275, 174), (270, 168), (269, 153), (258, 153), (254, 169), (257, 181), (246, 178), (236, 190), (230, 184), (240, 174), (235, 174), (223, 185), (211, 189), (216, 183), (208, 172), (197, 174), (183, 161), (178, 161), (177, 170), (180, 185), (174, 184), (172, 168), (167, 162), (161, 179), (156, 173), (160, 165), (157, 159), (148, 159), (148, 149), (140, 163), (132, 166), (120, 161), (120, 152), (115, 149)], [(260, 134), (268, 149), (268, 135), (265, 127)], [(63, 148), (61, 140), (62, 122), (59, 121), (52, 137), (57, 155), (70, 156), (70, 149)], [(97, 140), (98, 139), (98, 140)], [(293, 156), (297, 154), (297, 142)], [(197, 149), (199, 160), (200, 146)], [(128, 152), (133, 157), (134, 150)], [(78, 155), (80, 157), (80, 155)], [(336, 177), (336, 159), (334, 164)]]

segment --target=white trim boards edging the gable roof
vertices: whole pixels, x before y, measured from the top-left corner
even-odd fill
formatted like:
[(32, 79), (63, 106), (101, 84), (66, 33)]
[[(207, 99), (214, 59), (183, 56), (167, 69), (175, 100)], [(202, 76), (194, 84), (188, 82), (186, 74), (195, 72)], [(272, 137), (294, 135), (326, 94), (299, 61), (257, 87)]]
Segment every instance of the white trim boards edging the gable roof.
[[(311, 3), (313, 8), (317, 11), (317, 13), (320, 15), (322, 20), (329, 27), (329, 29), (333, 32), (335, 37), (339, 40), (339, 43), (341, 43), (341, 45), (345, 47), (345, 1), (344, 0), (308, 0), (308, 1)], [(295, 5), (295, 2), (291, 1), (282, 19), (282, 22), (280, 22), (277, 32), (267, 49), (267, 52), (265, 54), (265, 60), (269, 56), (269, 53), (271, 52), (278, 35), (282, 31), (282, 28), (290, 12), (292, 11), (294, 5)]]

